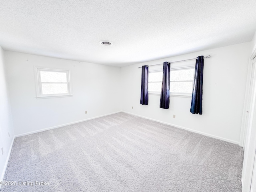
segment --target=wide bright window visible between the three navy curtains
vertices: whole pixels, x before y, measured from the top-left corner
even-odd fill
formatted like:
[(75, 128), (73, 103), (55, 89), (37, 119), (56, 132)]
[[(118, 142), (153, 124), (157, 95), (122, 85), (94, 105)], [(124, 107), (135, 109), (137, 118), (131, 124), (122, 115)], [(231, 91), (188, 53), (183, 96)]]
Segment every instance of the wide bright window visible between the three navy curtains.
[[(149, 94), (160, 94), (162, 88), (162, 69), (148, 73)], [(170, 95), (191, 96), (194, 82), (194, 66), (170, 69)]]

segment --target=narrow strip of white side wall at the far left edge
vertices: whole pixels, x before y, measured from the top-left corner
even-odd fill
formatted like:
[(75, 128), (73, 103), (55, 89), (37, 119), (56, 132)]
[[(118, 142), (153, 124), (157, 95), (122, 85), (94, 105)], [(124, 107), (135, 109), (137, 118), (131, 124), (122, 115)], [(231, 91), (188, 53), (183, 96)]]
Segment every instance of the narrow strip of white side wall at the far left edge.
[[(10, 133), (10, 137), (8, 133)], [(0, 181), (2, 181), (4, 177), (13, 138), (12, 114), (4, 67), (4, 51), (0, 47)], [(1, 148), (4, 149), (3, 155)]]

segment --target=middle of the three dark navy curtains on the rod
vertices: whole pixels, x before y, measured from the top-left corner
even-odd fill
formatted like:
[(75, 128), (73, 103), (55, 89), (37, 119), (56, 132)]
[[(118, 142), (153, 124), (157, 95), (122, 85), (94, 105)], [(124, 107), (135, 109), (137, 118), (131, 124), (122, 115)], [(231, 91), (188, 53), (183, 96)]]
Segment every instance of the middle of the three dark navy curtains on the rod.
[(170, 104), (170, 62), (164, 62), (160, 108), (168, 109)]

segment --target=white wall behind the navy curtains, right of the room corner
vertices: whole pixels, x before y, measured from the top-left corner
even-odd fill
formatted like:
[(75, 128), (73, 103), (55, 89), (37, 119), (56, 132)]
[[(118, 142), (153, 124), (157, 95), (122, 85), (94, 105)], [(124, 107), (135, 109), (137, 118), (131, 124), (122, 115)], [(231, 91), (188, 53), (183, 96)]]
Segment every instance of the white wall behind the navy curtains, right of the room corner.
[[(239, 144), (250, 45), (250, 42), (236, 44), (122, 67), (122, 110)], [(168, 110), (159, 108), (159, 95), (149, 95), (148, 106), (140, 105), (141, 69), (138, 66), (200, 55), (211, 55), (204, 60), (202, 115), (190, 113), (191, 98), (170, 97)], [(172, 117), (174, 114), (176, 118)]]

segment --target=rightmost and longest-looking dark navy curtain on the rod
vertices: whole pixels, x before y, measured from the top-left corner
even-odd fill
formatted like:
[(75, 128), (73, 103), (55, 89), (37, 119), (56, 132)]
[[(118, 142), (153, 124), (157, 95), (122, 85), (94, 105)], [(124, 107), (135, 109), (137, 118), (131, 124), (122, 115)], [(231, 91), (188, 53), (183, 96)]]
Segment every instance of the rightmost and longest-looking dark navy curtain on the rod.
[(202, 115), (204, 56), (196, 59), (194, 87), (190, 112)]

